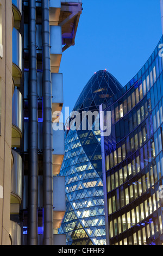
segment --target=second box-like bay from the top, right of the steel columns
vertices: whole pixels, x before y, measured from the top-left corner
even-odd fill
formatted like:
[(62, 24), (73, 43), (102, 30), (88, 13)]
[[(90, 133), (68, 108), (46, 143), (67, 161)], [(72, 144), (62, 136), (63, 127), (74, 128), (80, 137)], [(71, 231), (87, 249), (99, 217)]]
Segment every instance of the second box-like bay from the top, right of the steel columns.
[(51, 40), (51, 72), (58, 73), (62, 57), (62, 35), (61, 27), (50, 26)]

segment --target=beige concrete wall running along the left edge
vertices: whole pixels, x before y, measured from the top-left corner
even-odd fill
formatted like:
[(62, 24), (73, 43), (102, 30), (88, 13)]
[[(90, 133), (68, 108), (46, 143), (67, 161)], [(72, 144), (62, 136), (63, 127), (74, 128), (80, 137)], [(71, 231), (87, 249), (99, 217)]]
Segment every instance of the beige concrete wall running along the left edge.
[(12, 131), (12, 14), (11, 1), (0, 1), (0, 245), (10, 245)]

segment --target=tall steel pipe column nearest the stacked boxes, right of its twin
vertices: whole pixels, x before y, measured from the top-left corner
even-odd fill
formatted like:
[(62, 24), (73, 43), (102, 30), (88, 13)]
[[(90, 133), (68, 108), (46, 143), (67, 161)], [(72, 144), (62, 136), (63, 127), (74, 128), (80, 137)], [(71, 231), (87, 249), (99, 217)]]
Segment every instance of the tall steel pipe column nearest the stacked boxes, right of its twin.
[(53, 245), (52, 84), (49, 40), (49, 0), (42, 0), (44, 245)]

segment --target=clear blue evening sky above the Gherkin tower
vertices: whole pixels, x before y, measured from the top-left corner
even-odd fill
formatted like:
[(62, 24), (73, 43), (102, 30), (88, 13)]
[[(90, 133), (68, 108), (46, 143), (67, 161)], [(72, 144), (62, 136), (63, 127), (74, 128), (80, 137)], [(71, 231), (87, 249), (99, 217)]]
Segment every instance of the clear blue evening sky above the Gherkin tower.
[(83, 0), (76, 45), (62, 54), (59, 70), (64, 75), (64, 107), (72, 111), (98, 70), (106, 69), (125, 86), (161, 35), (160, 0)]

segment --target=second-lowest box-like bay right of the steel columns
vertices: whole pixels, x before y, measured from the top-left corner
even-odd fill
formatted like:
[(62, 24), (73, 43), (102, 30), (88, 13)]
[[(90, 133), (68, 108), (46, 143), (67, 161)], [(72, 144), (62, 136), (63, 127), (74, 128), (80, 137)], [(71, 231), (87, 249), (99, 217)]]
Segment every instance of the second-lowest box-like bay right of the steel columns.
[(65, 177), (53, 176), (53, 228), (60, 228), (66, 211)]

